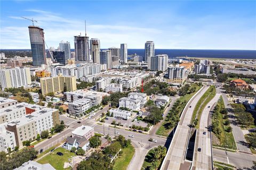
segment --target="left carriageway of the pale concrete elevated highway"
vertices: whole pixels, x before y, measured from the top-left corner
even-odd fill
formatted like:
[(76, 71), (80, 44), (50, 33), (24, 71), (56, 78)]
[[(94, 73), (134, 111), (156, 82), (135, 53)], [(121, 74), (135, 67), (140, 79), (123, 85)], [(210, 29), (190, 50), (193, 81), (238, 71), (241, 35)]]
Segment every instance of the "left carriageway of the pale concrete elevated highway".
[[(193, 115), (197, 101), (205, 93), (209, 87), (204, 86), (199, 90), (193, 98), (187, 103), (185, 109), (182, 112), (180, 122), (177, 126), (176, 132), (173, 136), (171, 145), (167, 151), (167, 155), (164, 158), (161, 170), (167, 169), (189, 169), (185, 167), (184, 159), (187, 149), (187, 142), (189, 137), (189, 125)], [(189, 107), (191, 106), (191, 107)]]

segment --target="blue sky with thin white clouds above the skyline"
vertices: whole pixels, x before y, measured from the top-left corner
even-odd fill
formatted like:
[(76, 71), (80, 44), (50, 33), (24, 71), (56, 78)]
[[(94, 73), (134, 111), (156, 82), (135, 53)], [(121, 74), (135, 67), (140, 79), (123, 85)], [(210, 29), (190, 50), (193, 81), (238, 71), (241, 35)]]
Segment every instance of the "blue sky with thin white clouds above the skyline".
[(256, 50), (256, 1), (0, 1), (0, 48), (30, 48), (34, 18), (47, 45), (74, 36), (99, 38), (101, 48)]

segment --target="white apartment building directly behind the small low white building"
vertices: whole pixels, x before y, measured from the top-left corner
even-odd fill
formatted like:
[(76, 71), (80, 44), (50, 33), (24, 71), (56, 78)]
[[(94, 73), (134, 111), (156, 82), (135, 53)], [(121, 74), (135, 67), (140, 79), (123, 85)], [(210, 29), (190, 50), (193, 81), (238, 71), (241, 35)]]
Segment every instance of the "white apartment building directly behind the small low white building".
[(140, 100), (139, 99), (130, 99), (130, 98), (121, 98), (119, 99), (119, 107), (128, 108), (131, 110), (140, 110)]

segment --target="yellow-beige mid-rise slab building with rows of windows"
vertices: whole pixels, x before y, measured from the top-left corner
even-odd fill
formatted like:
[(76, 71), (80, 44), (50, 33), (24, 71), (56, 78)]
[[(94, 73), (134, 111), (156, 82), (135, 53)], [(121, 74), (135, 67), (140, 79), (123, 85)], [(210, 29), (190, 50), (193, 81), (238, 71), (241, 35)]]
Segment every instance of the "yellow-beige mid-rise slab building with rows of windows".
[(62, 92), (66, 84), (67, 91), (76, 91), (76, 77), (62, 76), (45, 77), (40, 79), (42, 94), (45, 96), (48, 93)]

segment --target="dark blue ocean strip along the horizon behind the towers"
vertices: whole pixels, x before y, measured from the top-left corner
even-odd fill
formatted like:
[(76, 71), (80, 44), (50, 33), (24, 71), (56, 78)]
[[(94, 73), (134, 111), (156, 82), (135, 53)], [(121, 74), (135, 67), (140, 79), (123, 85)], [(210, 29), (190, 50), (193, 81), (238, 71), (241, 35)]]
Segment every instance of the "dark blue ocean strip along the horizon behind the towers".
[[(106, 50), (101, 49), (101, 50)], [(31, 51), (30, 49), (1, 49), (0, 51)], [(74, 51), (74, 49), (71, 49)], [(136, 53), (144, 56), (144, 49), (128, 49), (128, 55)], [(155, 55), (167, 54), (169, 58), (188, 56), (195, 58), (223, 58), (223, 59), (255, 59), (256, 50), (188, 50), (188, 49), (155, 49)]]

